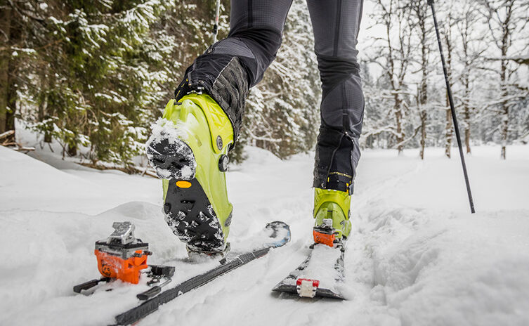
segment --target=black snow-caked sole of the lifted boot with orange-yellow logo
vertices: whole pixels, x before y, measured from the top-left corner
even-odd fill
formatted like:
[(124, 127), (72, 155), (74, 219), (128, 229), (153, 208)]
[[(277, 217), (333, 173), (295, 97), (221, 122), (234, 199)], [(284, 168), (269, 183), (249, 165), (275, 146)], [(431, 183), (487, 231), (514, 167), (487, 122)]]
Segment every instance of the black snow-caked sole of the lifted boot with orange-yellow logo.
[[(191, 148), (179, 139), (162, 139), (147, 146), (149, 162), (160, 178), (169, 179), (165, 221), (178, 238), (197, 252), (223, 252), (221, 223), (202, 185), (195, 178), (197, 162)], [(181, 183), (178, 181), (188, 181)], [(180, 186), (179, 186), (180, 185)], [(231, 216), (226, 224), (229, 225)]]

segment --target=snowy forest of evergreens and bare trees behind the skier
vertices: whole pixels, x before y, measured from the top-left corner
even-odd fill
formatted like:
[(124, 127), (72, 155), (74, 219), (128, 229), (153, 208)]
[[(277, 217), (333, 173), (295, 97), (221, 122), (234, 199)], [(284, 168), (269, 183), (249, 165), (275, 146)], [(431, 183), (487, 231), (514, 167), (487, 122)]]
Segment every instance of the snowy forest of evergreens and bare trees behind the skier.
[[(466, 152), (529, 143), (529, 1), (436, 2)], [(17, 130), (63, 156), (130, 169), (183, 72), (211, 45), (215, 1), (0, 0), (0, 143)], [(229, 30), (221, 1), (219, 38)], [(454, 145), (426, 0), (366, 0), (358, 49), (363, 148)], [(313, 150), (320, 81), (304, 0), (294, 0), (277, 60), (250, 91), (244, 145), (280, 158)], [(13, 132), (14, 131), (14, 132)], [(19, 144), (20, 145), (20, 144)], [(133, 169), (130, 169), (133, 171)]]

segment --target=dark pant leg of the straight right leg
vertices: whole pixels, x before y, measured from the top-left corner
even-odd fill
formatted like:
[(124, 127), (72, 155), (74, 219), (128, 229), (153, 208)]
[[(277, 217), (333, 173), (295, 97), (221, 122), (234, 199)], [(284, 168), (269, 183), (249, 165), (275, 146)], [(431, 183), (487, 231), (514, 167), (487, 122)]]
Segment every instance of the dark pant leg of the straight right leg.
[(363, 0), (307, 0), (307, 4), (322, 81), (313, 186), (353, 193), (364, 112), (356, 59)]

